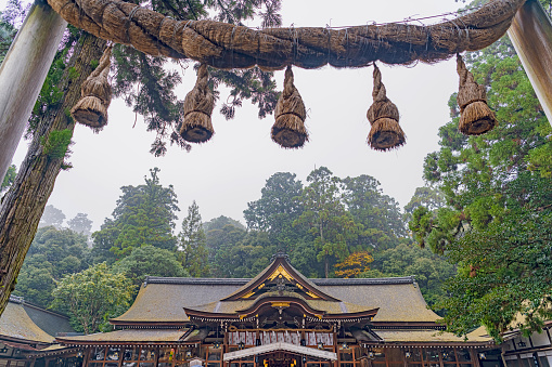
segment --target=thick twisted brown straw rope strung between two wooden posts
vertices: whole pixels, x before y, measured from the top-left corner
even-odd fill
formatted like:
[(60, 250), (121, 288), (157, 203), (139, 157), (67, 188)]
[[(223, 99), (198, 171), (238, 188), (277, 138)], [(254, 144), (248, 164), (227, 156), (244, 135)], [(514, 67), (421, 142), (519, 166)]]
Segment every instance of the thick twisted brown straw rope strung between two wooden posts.
[(105, 40), (131, 44), (153, 56), (188, 57), (227, 69), (434, 63), (497, 41), (525, 1), (492, 0), (474, 13), (432, 26), (255, 30), (213, 21), (177, 22), (120, 0), (48, 0), (69, 24)]

